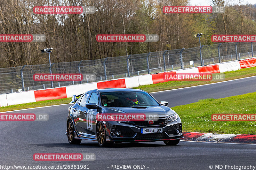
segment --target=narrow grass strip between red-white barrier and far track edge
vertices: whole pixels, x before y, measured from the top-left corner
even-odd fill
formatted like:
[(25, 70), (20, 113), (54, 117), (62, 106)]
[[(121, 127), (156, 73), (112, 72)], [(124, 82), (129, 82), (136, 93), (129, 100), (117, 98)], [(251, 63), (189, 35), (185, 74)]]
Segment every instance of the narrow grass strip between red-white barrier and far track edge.
[[(226, 81), (238, 79), (238, 78), (251, 77), (251, 76), (256, 76), (256, 67), (225, 72)], [(142, 89), (147, 92), (158, 92), (162, 90), (177, 89), (177, 88), (204, 85), (204, 84), (210, 84), (210, 83), (216, 83), (216, 82), (218, 81), (169, 81), (169, 82), (158, 83), (158, 84), (142, 85), (135, 88)], [(65, 104), (65, 103), (69, 103), (70, 101), (71, 101), (71, 98), (66, 98), (66, 99), (45, 100), (45, 101), (38, 101), (33, 103), (12, 105), (12, 106), (0, 107), (0, 112), (32, 108), (32, 107), (43, 107), (43, 106)]]

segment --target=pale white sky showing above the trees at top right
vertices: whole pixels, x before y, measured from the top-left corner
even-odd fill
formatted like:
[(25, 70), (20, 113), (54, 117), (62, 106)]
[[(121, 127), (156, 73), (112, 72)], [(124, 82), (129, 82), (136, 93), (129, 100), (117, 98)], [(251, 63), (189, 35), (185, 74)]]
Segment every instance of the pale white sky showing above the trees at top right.
[[(239, 0), (228, 0), (230, 4), (239, 4)], [(240, 0), (241, 4), (256, 4), (256, 0)], [(212, 0), (190, 0), (191, 5), (212, 5)]]

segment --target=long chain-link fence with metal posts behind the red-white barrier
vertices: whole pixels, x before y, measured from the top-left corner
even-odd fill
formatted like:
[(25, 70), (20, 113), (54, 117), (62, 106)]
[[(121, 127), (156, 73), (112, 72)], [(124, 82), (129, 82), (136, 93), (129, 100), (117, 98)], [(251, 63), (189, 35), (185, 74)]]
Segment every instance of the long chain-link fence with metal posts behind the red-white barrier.
[[(33, 74), (36, 73), (94, 73), (95, 81), (100, 81), (249, 58), (253, 57), (253, 49), (256, 49), (256, 43), (220, 43), (98, 60), (52, 63), (51, 66), (42, 64), (2, 68), (0, 93), (89, 83), (87, 80), (54, 81), (53, 84), (51, 81), (34, 81)], [(191, 60), (193, 65), (190, 65)]]

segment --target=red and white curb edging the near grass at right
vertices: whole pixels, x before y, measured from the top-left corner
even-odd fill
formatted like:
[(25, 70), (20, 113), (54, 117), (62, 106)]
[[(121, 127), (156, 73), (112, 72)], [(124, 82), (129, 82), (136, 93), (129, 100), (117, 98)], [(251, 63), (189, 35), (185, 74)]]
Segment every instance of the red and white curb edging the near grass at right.
[(230, 135), (216, 133), (183, 132), (187, 141), (212, 143), (256, 144), (256, 135)]

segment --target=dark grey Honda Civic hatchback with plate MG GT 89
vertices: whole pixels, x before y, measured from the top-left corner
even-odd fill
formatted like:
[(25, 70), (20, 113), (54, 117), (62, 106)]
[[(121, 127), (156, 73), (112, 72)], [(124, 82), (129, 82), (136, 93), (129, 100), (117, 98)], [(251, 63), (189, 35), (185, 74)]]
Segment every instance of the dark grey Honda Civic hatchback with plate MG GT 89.
[[(66, 135), (70, 144), (80, 144), (86, 139), (97, 141), (101, 147), (121, 142), (154, 141), (177, 145), (183, 138), (180, 117), (167, 107), (168, 102), (158, 103), (140, 89), (90, 90), (73, 95), (70, 103), (74, 103), (68, 107), (67, 117)], [(156, 115), (157, 119), (100, 119), (109, 114)]]

